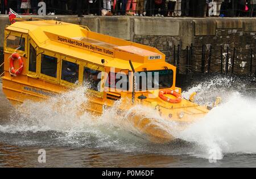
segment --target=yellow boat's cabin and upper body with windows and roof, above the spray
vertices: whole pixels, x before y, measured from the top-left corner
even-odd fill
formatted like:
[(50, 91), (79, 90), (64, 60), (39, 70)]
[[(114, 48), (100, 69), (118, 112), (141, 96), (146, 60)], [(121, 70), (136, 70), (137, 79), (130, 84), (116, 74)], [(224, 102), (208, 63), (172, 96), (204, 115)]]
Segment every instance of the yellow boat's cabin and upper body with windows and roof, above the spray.
[[(180, 92), (175, 87), (176, 68), (165, 62), (165, 55), (159, 50), (92, 32), (77, 24), (18, 21), (5, 29), (4, 50), (3, 88), (11, 101), (26, 99), (18, 93), (32, 98), (47, 97), (81, 84), (88, 84), (92, 96), (100, 101), (149, 93), (158, 96), (158, 88)], [(19, 75), (10, 71), (13, 53), (23, 60)], [(19, 68), (18, 61), (14, 61), (14, 69)], [(142, 84), (139, 79), (148, 78), (148, 74), (159, 74), (157, 85), (152, 80)]]

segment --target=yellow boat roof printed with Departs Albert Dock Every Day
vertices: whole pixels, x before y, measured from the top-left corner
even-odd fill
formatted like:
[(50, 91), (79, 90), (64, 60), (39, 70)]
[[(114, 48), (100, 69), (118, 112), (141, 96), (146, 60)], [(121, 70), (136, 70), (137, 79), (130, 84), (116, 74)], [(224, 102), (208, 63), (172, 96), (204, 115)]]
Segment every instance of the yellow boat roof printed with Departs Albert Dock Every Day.
[(156, 48), (92, 32), (77, 24), (35, 20), (15, 22), (6, 29), (28, 33), (42, 49), (97, 65), (102, 65), (101, 59), (105, 59), (105, 66), (119, 69), (130, 69), (129, 60), (135, 69), (145, 63), (165, 63), (165, 55)]

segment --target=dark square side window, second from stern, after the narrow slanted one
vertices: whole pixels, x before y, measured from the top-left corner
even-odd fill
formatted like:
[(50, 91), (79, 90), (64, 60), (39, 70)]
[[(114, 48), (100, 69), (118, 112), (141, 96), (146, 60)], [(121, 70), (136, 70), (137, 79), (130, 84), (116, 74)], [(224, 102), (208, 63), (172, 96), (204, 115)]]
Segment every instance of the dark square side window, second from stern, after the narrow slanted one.
[(57, 58), (42, 54), (41, 73), (56, 78), (57, 76)]

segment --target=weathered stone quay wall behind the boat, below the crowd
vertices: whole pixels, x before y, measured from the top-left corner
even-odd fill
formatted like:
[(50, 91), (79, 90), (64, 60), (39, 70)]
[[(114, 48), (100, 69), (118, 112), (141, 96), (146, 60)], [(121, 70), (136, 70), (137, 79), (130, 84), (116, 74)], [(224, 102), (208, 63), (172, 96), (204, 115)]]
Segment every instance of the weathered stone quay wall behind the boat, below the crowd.
[[(31, 17), (31, 16), (28, 16)], [(36, 16), (55, 19), (56, 16)], [(57, 16), (58, 20), (88, 26), (91, 31), (154, 46), (171, 61), (174, 46), (185, 49), (191, 44), (252, 48), (256, 55), (256, 18), (162, 18), (134, 16)], [(3, 29), (9, 24), (0, 15), (0, 46)], [(254, 56), (255, 56), (254, 55)], [(181, 63), (184, 59), (181, 59)], [(254, 59), (254, 65), (256, 65)], [(255, 69), (255, 67), (254, 67)]]

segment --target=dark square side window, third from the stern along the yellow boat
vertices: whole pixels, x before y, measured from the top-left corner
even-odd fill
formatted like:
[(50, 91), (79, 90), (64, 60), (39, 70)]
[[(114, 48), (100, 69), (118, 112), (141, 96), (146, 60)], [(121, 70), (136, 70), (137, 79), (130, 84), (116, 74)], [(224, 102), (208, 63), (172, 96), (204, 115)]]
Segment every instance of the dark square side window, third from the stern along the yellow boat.
[(61, 79), (69, 83), (78, 83), (79, 65), (69, 61), (62, 60)]

